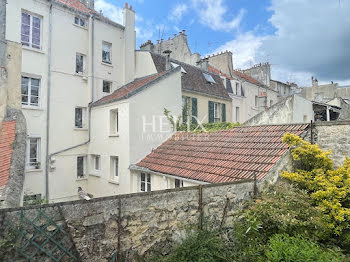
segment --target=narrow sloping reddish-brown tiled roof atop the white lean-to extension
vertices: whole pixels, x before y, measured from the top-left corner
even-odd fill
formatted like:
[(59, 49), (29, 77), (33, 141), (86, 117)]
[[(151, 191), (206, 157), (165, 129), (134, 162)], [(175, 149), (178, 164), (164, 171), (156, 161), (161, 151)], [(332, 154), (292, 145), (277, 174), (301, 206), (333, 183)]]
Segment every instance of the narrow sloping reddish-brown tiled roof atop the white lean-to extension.
[(147, 87), (148, 84), (152, 84), (154, 81), (156, 81), (166, 73), (169, 73), (169, 71), (164, 71), (162, 73), (137, 78), (134, 81), (118, 88), (112, 94), (104, 96), (100, 100), (97, 100), (96, 102), (92, 103), (92, 106), (99, 106), (99, 105), (119, 101), (122, 99), (127, 99), (133, 96), (134, 94), (137, 94), (138, 92), (143, 90), (143, 88)]

